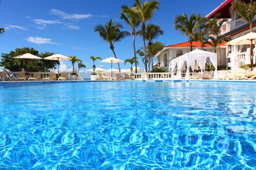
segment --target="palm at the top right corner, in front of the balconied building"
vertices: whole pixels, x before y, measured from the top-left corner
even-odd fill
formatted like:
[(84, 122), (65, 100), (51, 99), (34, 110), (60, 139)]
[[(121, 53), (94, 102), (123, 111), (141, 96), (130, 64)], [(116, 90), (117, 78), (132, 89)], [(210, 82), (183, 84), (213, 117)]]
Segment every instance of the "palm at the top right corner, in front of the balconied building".
[[(247, 21), (250, 25), (250, 32), (252, 32), (252, 22), (253, 18), (256, 15), (256, 2), (251, 0), (251, 3), (245, 3), (243, 1), (235, 1), (230, 6), (230, 12), (231, 14), (234, 14), (234, 12), (237, 12), (239, 16), (241, 16), (245, 21)], [(253, 47), (251, 42), (251, 70), (253, 66)]]

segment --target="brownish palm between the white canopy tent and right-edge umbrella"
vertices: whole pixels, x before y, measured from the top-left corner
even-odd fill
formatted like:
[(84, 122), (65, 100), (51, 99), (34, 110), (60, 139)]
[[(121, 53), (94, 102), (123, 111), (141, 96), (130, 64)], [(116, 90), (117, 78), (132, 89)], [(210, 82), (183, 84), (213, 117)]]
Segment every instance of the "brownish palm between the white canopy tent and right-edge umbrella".
[(221, 26), (223, 23), (227, 22), (228, 20), (227, 19), (221, 19), (221, 20), (218, 20), (218, 16), (219, 15), (214, 15), (213, 16), (213, 19), (211, 19), (207, 25), (209, 27), (209, 33), (211, 35), (211, 37), (217, 41), (217, 45), (219, 47), (219, 66), (221, 68), (221, 53), (220, 53), (220, 43), (225, 40), (225, 37), (223, 35), (221, 35), (219, 32), (220, 32), (220, 29), (221, 29)]

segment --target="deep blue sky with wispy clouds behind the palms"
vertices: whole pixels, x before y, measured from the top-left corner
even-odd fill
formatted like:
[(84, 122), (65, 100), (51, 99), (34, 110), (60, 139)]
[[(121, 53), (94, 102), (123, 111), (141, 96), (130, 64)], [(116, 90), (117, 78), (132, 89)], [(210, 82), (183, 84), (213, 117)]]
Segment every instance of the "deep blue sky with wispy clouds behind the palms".
[[(104, 41), (97, 32), (96, 25), (103, 25), (113, 19), (123, 26), (122, 31), (131, 32), (131, 28), (120, 18), (121, 6), (132, 6), (134, 0), (0, 0), (0, 28), (5, 28), (0, 35), (0, 53), (10, 53), (16, 48), (29, 47), (39, 53), (52, 52), (65, 56), (76, 56), (81, 59), (86, 69), (92, 68), (90, 56), (103, 59), (114, 56), (109, 43)], [(159, 0), (159, 10), (146, 24), (156, 24), (164, 31), (154, 41), (164, 45), (173, 45), (188, 40), (187, 36), (174, 28), (174, 18), (186, 13), (206, 16), (225, 0)], [(144, 0), (141, 0), (143, 3)], [(140, 27), (139, 27), (140, 28)], [(137, 30), (139, 29), (137, 28)], [(141, 37), (136, 37), (136, 48), (143, 47)], [(133, 57), (132, 36), (114, 43), (115, 53), (120, 60)], [(97, 67), (110, 69), (111, 64), (95, 61)], [(75, 65), (77, 68), (77, 64)], [(120, 63), (121, 69), (131, 67), (130, 63)], [(139, 57), (139, 67), (145, 69)], [(116, 63), (113, 68), (118, 69)], [(71, 71), (70, 61), (60, 63), (60, 72)], [(54, 71), (54, 70), (53, 70)], [(90, 75), (90, 74), (89, 74)]]

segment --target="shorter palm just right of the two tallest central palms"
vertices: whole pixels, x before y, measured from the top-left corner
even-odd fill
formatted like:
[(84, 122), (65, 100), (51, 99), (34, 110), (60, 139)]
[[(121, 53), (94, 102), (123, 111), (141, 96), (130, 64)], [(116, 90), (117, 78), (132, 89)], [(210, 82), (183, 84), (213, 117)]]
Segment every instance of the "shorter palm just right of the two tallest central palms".
[[(142, 31), (138, 31), (139, 35), (142, 36)], [(150, 60), (151, 60), (151, 67), (153, 70), (153, 52), (152, 52), (152, 45), (153, 45), (153, 39), (156, 39), (160, 35), (163, 35), (164, 31), (160, 29), (158, 25), (155, 24), (148, 24), (146, 26), (146, 32), (145, 32), (145, 39), (148, 40), (148, 47), (149, 47), (149, 54), (150, 54)]]

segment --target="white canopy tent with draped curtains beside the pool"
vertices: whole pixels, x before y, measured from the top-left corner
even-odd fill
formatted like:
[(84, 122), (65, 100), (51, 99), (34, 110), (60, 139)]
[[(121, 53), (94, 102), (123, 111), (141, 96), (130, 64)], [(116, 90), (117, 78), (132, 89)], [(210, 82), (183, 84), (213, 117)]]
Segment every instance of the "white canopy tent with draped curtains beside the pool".
[(177, 65), (178, 79), (181, 79), (181, 69), (185, 62), (187, 62), (186, 79), (189, 79), (189, 67), (191, 66), (191, 68), (194, 68), (196, 62), (198, 63), (198, 66), (201, 68), (201, 72), (203, 74), (203, 71), (205, 70), (205, 64), (207, 62), (208, 57), (210, 58), (211, 64), (213, 64), (213, 66), (215, 67), (213, 79), (217, 79), (217, 54), (207, 52), (207, 51), (204, 51), (201, 49), (195, 49), (192, 52), (189, 52), (189, 53), (183, 54), (177, 58), (174, 58), (171, 61), (172, 77), (173, 77), (174, 67)]

